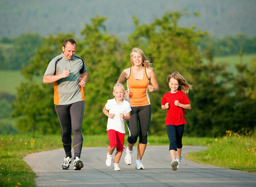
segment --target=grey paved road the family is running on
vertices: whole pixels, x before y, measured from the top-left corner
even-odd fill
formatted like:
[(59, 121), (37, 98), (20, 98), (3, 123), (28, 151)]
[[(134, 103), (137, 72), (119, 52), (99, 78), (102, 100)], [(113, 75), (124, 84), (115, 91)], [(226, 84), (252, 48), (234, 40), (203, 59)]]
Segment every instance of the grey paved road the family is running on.
[[(246, 173), (212, 167), (186, 159), (199, 146), (184, 146), (183, 158), (177, 171), (171, 169), (168, 146), (148, 146), (143, 157), (145, 170), (136, 170), (135, 162), (119, 163), (121, 171), (113, 171), (105, 165), (107, 147), (84, 147), (81, 160), (82, 170), (61, 170), (64, 150), (51, 150), (29, 154), (24, 157), (38, 176), (38, 187), (256, 187), (256, 173)], [(134, 159), (136, 155), (134, 150)]]

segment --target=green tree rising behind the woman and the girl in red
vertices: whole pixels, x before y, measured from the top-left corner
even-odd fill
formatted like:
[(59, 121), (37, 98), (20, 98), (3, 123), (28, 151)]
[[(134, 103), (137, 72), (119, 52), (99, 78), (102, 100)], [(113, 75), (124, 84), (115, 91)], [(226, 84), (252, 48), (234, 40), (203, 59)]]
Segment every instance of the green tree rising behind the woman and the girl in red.
[(193, 82), (191, 67), (201, 63), (200, 55), (193, 44), (205, 33), (195, 31), (194, 27), (177, 26), (177, 21), (184, 15), (184, 11), (166, 12), (162, 19), (156, 19), (148, 25), (139, 25), (139, 20), (134, 17), (136, 29), (129, 37), (128, 47), (139, 47), (148, 54), (160, 87), (157, 94), (149, 93), (152, 105), (151, 133), (165, 132), (166, 111), (161, 109), (161, 99), (170, 90), (167, 76), (173, 71), (179, 71), (189, 82)]

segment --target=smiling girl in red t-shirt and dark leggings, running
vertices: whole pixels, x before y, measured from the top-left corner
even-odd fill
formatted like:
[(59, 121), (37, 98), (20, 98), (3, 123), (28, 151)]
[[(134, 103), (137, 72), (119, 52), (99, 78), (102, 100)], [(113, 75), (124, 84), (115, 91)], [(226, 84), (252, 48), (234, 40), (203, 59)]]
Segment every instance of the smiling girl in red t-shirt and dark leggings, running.
[(176, 171), (182, 158), (182, 136), (184, 125), (186, 124), (184, 119), (185, 109), (191, 109), (190, 101), (186, 94), (189, 89), (192, 89), (192, 85), (189, 85), (186, 79), (177, 71), (169, 74), (167, 80), (171, 91), (163, 95), (161, 107), (163, 110), (167, 109), (165, 125), (170, 141), (169, 151), (172, 159), (172, 170)]

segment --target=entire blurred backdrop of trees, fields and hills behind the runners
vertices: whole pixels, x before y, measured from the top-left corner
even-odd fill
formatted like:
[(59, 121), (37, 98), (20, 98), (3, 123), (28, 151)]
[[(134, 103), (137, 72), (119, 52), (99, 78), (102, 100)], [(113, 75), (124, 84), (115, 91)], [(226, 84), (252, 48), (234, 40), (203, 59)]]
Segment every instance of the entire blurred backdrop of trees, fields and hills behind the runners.
[(107, 117), (102, 108), (113, 98), (113, 85), (122, 70), (131, 66), (134, 47), (153, 62), (160, 86), (157, 94), (149, 93), (151, 135), (166, 133), (166, 111), (160, 102), (169, 91), (166, 78), (173, 71), (193, 85), (185, 136), (253, 130), (256, 11), (251, 7), (256, 7), (255, 2), (118, 2), (75, 0), (73, 8), (57, 0), (0, 2), (0, 134), (60, 134), (53, 84), (44, 85), (42, 78), (67, 37), (78, 42), (76, 54), (88, 68), (84, 134), (105, 133)]

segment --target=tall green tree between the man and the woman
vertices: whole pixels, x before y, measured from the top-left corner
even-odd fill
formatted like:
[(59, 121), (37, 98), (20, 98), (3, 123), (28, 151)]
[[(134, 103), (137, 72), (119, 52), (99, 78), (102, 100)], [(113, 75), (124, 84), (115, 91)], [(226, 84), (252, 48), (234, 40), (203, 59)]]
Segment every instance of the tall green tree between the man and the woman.
[(88, 67), (83, 122), (87, 134), (105, 132), (108, 117), (102, 109), (113, 98), (113, 86), (121, 71), (121, 45), (118, 38), (108, 34), (105, 20), (100, 16), (92, 18), (91, 25), (86, 24), (81, 31), (84, 40), (78, 46), (78, 54)]

